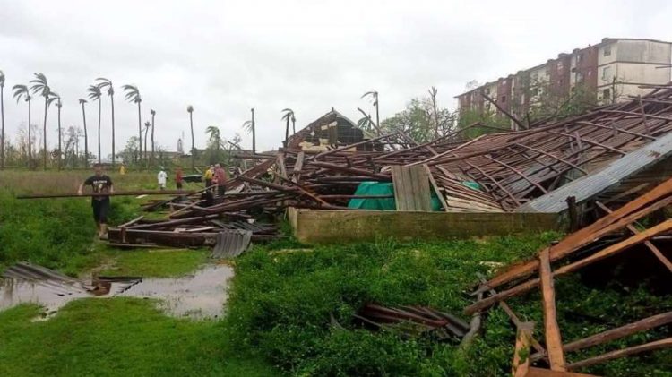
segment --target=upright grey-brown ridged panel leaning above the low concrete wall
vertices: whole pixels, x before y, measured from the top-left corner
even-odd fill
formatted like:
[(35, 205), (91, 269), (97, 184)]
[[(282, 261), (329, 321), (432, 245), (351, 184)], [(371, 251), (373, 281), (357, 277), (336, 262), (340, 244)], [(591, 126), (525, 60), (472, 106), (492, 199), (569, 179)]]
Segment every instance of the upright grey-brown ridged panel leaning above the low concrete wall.
[(429, 176), (422, 166), (392, 166), (392, 183), (397, 210), (432, 210)]

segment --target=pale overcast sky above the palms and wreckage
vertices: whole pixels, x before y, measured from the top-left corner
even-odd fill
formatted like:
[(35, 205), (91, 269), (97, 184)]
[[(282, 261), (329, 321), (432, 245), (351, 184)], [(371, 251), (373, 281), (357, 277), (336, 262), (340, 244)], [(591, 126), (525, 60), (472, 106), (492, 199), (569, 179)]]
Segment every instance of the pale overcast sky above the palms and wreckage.
[[(257, 149), (284, 137), (280, 110), (294, 109), (297, 128), (335, 107), (353, 120), (359, 97), (380, 93), (381, 118), (434, 85), (440, 104), (467, 81), (493, 81), (603, 37), (672, 39), (666, 1), (30, 1), (0, 0), (0, 70), (6, 75), (5, 123), (14, 140), (27, 121), (11, 87), (45, 73), (64, 100), (63, 124), (82, 125), (77, 100), (104, 76), (116, 86), (116, 145), (137, 134), (137, 108), (121, 85), (142, 94), (142, 121), (157, 111), (159, 145), (190, 143), (194, 106), (197, 147), (208, 125), (225, 137), (251, 138), (241, 124), (254, 107)], [(103, 101), (103, 152), (109, 145)], [(43, 105), (33, 104), (41, 128)], [(56, 144), (56, 109), (47, 124)], [(89, 104), (90, 149), (97, 105)], [(108, 142), (106, 142), (108, 141)], [(185, 148), (188, 149), (188, 148)]]

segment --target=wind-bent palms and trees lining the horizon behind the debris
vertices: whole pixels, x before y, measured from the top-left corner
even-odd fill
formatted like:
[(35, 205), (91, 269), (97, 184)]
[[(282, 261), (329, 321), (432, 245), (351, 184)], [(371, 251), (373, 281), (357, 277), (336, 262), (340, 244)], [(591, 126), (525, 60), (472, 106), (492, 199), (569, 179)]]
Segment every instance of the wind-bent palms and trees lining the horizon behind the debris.
[[(27, 84), (13, 85), (13, 98), (17, 104), (25, 103), (28, 120), (28, 127), (21, 126), (18, 134), (18, 141), (13, 145), (5, 138), (4, 130), (4, 83), (5, 76), (0, 71), (0, 168), (5, 166), (7, 161), (14, 165), (22, 165), (30, 168), (39, 166), (39, 162), (44, 169), (47, 166), (62, 168), (64, 166), (77, 167), (82, 164), (86, 167), (90, 159), (96, 159), (99, 163), (103, 161), (101, 150), (104, 143), (110, 143), (112, 154), (112, 165), (115, 166), (117, 158), (124, 160), (126, 164), (136, 164), (140, 167), (150, 167), (157, 164), (157, 153), (161, 155), (164, 150), (159, 150), (155, 142), (155, 118), (157, 112), (150, 109), (150, 119), (142, 122), (142, 95), (136, 85), (125, 84), (121, 86), (124, 91), (124, 99), (137, 106), (138, 113), (138, 133), (131, 137), (121, 150), (116, 146), (116, 124), (115, 124), (115, 86), (108, 78), (99, 77), (86, 89), (86, 95), (79, 99), (82, 107), (82, 127), (69, 126), (62, 127), (61, 108), (63, 101), (58, 92), (49, 84), (47, 76), (44, 73), (34, 73), (33, 80)], [(361, 98), (368, 99), (373, 105), (375, 119), (370, 113), (367, 113), (361, 107), (358, 112), (362, 117), (357, 125), (369, 134), (383, 133), (405, 133), (407, 137), (416, 142), (431, 141), (446, 135), (455, 134), (457, 130), (464, 126), (460, 116), (448, 108), (440, 107), (438, 104), (438, 90), (435, 87), (427, 90), (427, 94), (422, 97), (414, 98), (409, 101), (406, 108), (394, 116), (380, 120), (379, 116), (379, 93), (377, 90), (369, 90)], [(102, 141), (100, 132), (102, 124), (102, 106), (103, 100), (108, 98), (111, 140)], [(42, 129), (41, 129), (41, 150), (37, 136), (39, 128), (32, 123), (32, 104), (35, 99), (40, 100), (43, 106), (42, 111)], [(87, 106), (97, 104), (98, 117), (98, 140), (97, 154), (90, 150), (89, 124), (87, 124)], [(53, 150), (47, 148), (47, 117), (49, 109), (56, 107), (56, 118), (58, 126), (57, 147)], [(216, 126), (209, 126), (205, 130), (208, 135), (207, 148), (203, 150), (203, 156), (197, 156), (201, 153), (194, 145), (194, 106), (188, 105), (186, 112), (189, 116), (189, 128), (191, 132), (191, 165), (194, 168), (196, 159), (203, 158), (205, 163), (212, 161), (224, 162), (230, 159), (228, 156), (233, 151), (242, 150), (239, 143), (242, 140), (240, 135), (236, 134), (231, 140), (222, 137), (220, 129)], [(296, 133), (296, 114), (291, 108), (281, 110), (281, 121), (285, 126), (285, 143), (289, 140), (290, 131)], [(481, 119), (483, 121), (483, 119)], [(254, 120), (254, 108), (250, 109), (250, 118), (242, 128), (252, 136), (252, 152), (256, 153), (256, 124)], [(83, 138), (83, 146), (81, 139)], [(180, 140), (181, 141), (181, 140)], [(149, 142), (149, 145), (148, 145)], [(36, 148), (37, 145), (37, 148)], [(39, 159), (41, 158), (41, 161)], [(161, 159), (163, 160), (163, 159)], [(162, 161), (161, 161), (162, 163)]]

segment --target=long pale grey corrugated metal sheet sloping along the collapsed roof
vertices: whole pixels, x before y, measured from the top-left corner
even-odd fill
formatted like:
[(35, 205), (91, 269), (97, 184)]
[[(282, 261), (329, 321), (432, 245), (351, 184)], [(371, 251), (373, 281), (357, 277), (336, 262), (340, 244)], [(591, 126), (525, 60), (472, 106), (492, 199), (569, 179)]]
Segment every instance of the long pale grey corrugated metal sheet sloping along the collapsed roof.
[(565, 184), (552, 193), (529, 201), (516, 212), (561, 212), (567, 209), (565, 200), (574, 196), (577, 202), (585, 201), (610, 187), (620, 184), (628, 176), (637, 174), (672, 154), (672, 133), (616, 159), (603, 169)]

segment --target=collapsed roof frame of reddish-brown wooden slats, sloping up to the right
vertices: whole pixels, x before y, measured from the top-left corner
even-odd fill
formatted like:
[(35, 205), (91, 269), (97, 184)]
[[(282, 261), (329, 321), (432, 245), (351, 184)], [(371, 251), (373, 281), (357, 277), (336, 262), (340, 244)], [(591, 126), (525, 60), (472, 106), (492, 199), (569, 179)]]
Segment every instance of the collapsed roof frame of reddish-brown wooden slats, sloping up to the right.
[[(464, 130), (424, 144), (410, 140), (405, 133), (395, 133), (363, 141), (334, 142), (332, 150), (326, 152), (303, 150), (301, 143), (315, 129), (330, 123), (340, 127), (340, 118), (345, 117), (332, 110), (293, 135), (288, 148), (282, 150), (282, 158), (291, 175), (298, 153), (305, 151), (301, 168), (306, 172), (311, 165), (314, 167), (309, 174), (304, 173), (308, 180), (333, 174), (350, 176), (350, 180), (353, 176), (372, 179), (375, 175), (389, 176), (386, 166), (426, 164), (443, 192), (445, 210), (559, 211), (566, 208), (565, 193), (590, 188), (579, 198), (588, 199), (668, 158), (672, 151), (672, 88), (651, 89), (641, 98), (630, 98), (581, 116), (530, 130), (489, 133), (473, 140), (460, 140)], [(340, 138), (332, 138), (336, 139)], [(386, 147), (363, 148), (367, 143)], [(350, 144), (350, 148), (343, 144)], [(620, 162), (615, 165), (615, 161)], [(606, 168), (608, 174), (596, 175)], [(367, 174), (362, 176), (363, 172)], [(582, 178), (586, 176), (593, 178)], [(660, 174), (649, 178), (661, 181), (664, 177)], [(562, 198), (552, 196), (570, 183), (571, 192), (564, 190)]]

